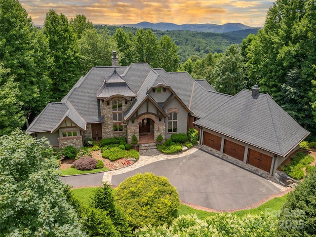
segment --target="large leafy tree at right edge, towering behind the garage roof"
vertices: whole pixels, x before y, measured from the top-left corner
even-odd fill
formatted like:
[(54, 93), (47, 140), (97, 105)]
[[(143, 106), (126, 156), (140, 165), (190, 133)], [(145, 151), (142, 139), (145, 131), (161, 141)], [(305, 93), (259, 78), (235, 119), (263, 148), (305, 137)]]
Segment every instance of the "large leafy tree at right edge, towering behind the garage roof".
[(276, 0), (264, 29), (247, 49), (249, 79), (258, 80), (262, 92), (271, 94), (286, 112), (311, 131), (310, 139), (316, 136), (312, 107), (316, 99), (315, 32), (314, 0)]

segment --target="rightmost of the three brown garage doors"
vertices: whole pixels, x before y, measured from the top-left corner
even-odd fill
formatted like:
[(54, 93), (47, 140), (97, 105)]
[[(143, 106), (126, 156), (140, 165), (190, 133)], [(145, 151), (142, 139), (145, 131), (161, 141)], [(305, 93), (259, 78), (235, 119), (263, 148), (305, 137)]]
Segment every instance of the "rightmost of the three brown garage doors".
[(270, 172), (272, 157), (267, 156), (261, 152), (249, 149), (248, 151), (248, 163), (259, 168)]

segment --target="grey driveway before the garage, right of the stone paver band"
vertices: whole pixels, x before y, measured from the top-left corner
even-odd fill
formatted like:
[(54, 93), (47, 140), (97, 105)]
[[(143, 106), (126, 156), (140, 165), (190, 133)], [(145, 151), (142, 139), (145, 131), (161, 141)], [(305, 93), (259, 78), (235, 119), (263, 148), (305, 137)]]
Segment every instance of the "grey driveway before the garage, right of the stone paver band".
[(216, 210), (245, 207), (280, 192), (270, 181), (201, 150), (114, 175), (112, 185), (145, 172), (167, 177), (182, 201)]

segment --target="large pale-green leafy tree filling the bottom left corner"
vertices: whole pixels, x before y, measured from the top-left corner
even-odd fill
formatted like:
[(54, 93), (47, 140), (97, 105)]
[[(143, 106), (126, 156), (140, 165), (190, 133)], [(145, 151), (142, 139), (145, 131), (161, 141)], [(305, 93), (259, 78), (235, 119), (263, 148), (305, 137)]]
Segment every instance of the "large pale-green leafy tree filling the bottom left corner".
[(0, 236), (85, 236), (57, 168), (47, 139), (0, 137)]

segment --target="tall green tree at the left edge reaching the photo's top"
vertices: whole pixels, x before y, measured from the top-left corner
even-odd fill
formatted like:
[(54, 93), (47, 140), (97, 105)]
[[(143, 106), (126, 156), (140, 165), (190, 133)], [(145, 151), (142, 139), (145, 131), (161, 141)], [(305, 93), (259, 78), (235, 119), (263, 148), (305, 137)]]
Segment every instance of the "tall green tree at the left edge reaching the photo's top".
[(18, 82), (26, 117), (39, 113), (49, 101), (48, 52), (44, 36), (18, 0), (0, 0), (0, 61)]

